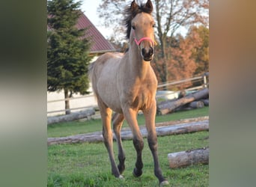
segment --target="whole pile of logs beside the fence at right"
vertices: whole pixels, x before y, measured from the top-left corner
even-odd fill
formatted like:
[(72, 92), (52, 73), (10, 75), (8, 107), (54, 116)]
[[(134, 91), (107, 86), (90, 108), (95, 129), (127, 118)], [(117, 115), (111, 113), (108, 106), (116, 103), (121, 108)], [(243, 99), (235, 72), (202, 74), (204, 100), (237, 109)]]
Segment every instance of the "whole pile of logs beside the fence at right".
[(178, 99), (170, 99), (157, 103), (157, 114), (168, 114), (174, 111), (189, 110), (192, 108), (202, 108), (209, 105), (209, 89), (204, 88), (195, 93), (185, 95), (180, 93)]

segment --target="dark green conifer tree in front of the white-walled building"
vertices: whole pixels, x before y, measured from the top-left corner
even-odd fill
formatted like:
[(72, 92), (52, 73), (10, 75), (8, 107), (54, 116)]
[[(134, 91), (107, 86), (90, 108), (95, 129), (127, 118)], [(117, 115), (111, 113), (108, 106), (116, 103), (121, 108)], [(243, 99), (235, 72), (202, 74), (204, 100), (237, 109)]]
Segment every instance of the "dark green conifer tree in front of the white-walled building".
[(90, 43), (85, 29), (76, 28), (82, 13), (81, 1), (47, 1), (47, 91), (64, 90), (66, 114), (73, 93), (88, 93), (88, 56)]

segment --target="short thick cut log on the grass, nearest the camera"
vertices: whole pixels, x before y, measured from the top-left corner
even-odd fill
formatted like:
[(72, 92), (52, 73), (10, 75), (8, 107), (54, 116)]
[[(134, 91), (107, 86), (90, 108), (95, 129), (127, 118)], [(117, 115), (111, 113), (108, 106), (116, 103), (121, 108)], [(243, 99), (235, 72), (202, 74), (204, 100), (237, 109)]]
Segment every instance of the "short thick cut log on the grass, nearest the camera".
[(177, 153), (168, 153), (168, 161), (170, 168), (182, 168), (198, 163), (209, 163), (209, 148), (201, 148), (198, 150), (186, 150)]

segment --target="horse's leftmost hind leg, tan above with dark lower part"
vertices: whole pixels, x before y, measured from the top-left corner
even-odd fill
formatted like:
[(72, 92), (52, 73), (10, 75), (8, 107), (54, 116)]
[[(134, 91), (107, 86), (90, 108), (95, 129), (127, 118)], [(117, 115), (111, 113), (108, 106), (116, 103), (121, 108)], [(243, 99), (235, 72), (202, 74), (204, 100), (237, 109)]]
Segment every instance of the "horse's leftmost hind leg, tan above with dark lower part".
[(111, 128), (112, 110), (110, 108), (107, 108), (106, 105), (103, 102), (100, 102), (99, 100), (100, 99), (98, 99), (98, 105), (100, 108), (101, 119), (103, 121), (104, 144), (106, 146), (106, 149), (109, 152), (109, 160), (112, 166), (112, 174), (115, 177), (121, 177), (118, 167), (115, 164), (115, 157), (114, 157), (114, 151), (113, 151), (113, 135), (112, 135), (112, 128)]

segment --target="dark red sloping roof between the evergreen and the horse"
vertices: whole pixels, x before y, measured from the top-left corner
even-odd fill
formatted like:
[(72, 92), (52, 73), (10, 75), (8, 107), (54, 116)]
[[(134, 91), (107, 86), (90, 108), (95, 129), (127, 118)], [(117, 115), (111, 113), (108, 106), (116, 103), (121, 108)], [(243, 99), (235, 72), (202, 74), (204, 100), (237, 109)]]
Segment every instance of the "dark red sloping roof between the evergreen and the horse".
[(91, 54), (116, 51), (115, 47), (103, 37), (103, 34), (98, 31), (84, 13), (79, 17), (76, 26), (79, 29), (86, 28), (85, 37), (88, 37), (88, 39), (91, 40)]

